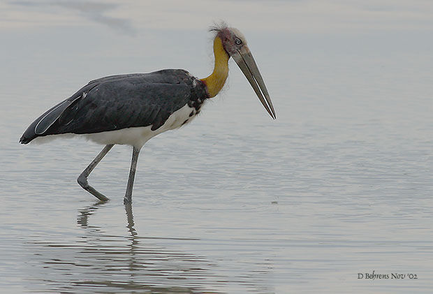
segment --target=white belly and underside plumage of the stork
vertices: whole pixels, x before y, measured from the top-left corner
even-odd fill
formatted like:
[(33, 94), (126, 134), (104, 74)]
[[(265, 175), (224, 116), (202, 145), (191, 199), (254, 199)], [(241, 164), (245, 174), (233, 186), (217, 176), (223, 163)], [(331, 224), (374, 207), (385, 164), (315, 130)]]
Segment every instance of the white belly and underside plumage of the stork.
[[(193, 115), (191, 115), (191, 112), (193, 113)], [(101, 133), (47, 135), (45, 137), (38, 137), (32, 142), (41, 143), (54, 138), (71, 137), (71, 135), (78, 135), (83, 136), (87, 138), (87, 140), (91, 140), (92, 142), (96, 142), (98, 144), (132, 145), (140, 149), (150, 138), (165, 131), (179, 128), (183, 124), (191, 122), (194, 117), (196, 117), (196, 109), (190, 108), (188, 105), (185, 105), (179, 110), (173, 112), (173, 114), (168, 117), (166, 122), (154, 131), (152, 131), (151, 129), (152, 126), (138, 126), (134, 128), (122, 128), (121, 130), (105, 131)]]

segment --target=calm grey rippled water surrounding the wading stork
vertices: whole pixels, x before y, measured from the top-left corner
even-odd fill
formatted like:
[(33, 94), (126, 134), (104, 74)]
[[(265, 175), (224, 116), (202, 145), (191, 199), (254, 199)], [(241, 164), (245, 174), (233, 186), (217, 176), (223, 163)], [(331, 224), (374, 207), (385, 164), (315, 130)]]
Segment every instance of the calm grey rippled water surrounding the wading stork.
[[(18, 139), (88, 80), (166, 67), (205, 76), (205, 27), (131, 37), (71, 23), (1, 34), (4, 291), (432, 289), (433, 45), (423, 32), (246, 29), (278, 119), (230, 64), (229, 89), (203, 115), (143, 147), (132, 206), (122, 204), (130, 147), (114, 147), (89, 177), (111, 198), (97, 203), (75, 180), (102, 147)], [(285, 49), (270, 54), (271, 41)], [(365, 279), (373, 271), (389, 279)]]

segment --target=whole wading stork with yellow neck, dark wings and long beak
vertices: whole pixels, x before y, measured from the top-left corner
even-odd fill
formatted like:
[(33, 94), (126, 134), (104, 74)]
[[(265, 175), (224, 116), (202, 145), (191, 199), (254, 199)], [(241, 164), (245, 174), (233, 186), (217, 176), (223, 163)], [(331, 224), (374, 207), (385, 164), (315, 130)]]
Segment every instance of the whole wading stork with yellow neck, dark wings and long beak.
[(131, 145), (131, 169), (124, 196), (124, 203), (131, 203), (142, 146), (155, 135), (179, 128), (198, 115), (203, 103), (216, 96), (226, 82), (230, 57), (235, 59), (260, 102), (275, 119), (265, 82), (242, 33), (226, 24), (210, 31), (215, 32), (215, 64), (207, 78), (194, 78), (181, 69), (166, 69), (92, 80), (38, 117), (20, 142), (27, 144), (35, 138), (74, 134), (105, 145), (78, 177), (83, 189), (103, 201), (108, 198), (90, 186), (87, 177), (115, 144)]

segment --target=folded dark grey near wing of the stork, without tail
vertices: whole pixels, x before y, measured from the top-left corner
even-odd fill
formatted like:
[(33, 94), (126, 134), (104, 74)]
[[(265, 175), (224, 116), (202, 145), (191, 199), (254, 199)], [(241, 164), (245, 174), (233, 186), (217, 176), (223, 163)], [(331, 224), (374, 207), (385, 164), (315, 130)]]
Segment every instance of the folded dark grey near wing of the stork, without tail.
[(129, 79), (94, 87), (67, 108), (47, 134), (99, 133), (150, 125), (154, 130), (182, 108), (191, 93), (186, 84), (135, 82)]

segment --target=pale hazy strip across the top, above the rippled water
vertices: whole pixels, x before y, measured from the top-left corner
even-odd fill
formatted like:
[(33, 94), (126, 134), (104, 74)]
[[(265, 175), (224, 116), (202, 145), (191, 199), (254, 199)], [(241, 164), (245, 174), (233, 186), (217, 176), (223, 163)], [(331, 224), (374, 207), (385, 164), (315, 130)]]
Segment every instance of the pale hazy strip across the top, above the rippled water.
[(200, 29), (226, 20), (260, 31), (423, 31), (432, 1), (2, 1), (1, 29), (94, 22), (119, 31)]

